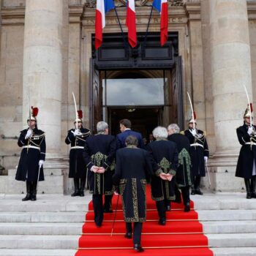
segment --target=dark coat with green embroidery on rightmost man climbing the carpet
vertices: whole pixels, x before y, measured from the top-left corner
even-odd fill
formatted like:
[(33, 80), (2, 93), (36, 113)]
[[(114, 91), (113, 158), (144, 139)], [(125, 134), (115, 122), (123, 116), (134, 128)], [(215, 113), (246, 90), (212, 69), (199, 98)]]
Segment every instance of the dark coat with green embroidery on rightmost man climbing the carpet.
[(191, 186), (191, 159), (189, 155), (189, 139), (180, 133), (173, 133), (168, 140), (176, 143), (178, 148), (178, 168), (176, 171), (176, 184), (178, 187)]

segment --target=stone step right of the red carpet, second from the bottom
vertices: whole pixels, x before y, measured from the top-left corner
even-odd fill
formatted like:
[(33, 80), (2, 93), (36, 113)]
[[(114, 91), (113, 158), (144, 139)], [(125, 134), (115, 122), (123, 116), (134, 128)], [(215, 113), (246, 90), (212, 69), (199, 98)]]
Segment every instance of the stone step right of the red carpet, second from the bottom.
[[(206, 234), (212, 247), (256, 247), (256, 233)], [(256, 254), (256, 248), (255, 248)]]

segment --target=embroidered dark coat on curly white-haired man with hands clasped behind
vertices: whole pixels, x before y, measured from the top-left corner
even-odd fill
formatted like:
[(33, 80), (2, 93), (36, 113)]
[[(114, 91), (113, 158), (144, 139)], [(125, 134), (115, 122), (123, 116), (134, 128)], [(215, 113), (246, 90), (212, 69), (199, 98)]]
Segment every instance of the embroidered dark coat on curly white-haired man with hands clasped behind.
[[(178, 149), (176, 143), (169, 140), (155, 140), (148, 144), (148, 151), (155, 162), (161, 167), (151, 177), (151, 197), (155, 201), (175, 200), (175, 178), (171, 181), (164, 181), (159, 177), (159, 172), (176, 175), (178, 167)], [(164, 194), (165, 193), (165, 194)]]

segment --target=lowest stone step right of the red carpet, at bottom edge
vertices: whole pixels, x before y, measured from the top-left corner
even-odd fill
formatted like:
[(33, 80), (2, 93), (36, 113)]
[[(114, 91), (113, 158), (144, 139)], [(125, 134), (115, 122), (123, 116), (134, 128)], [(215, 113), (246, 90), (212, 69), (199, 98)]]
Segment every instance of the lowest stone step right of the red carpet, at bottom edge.
[(255, 256), (255, 247), (211, 248), (214, 256)]

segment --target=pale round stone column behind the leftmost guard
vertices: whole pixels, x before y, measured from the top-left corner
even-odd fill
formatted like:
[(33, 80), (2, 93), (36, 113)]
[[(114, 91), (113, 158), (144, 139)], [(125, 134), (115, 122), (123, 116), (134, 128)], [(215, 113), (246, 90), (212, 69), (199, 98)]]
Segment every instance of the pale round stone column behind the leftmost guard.
[(39, 108), (47, 156), (61, 151), (62, 0), (26, 0), (23, 56), (23, 124)]

